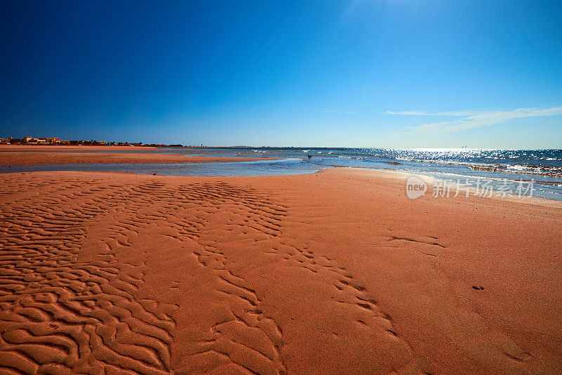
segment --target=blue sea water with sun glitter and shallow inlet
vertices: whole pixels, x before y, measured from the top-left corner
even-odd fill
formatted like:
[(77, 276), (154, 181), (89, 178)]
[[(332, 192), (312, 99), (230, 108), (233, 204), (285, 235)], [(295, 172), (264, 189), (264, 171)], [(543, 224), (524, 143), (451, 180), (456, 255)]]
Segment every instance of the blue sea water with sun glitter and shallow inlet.
[[(53, 151), (60, 152), (59, 147)], [(110, 152), (110, 147), (100, 152)], [(73, 150), (72, 152), (76, 152)], [(87, 152), (91, 152), (87, 150)], [(122, 152), (122, 151), (117, 151)], [(196, 147), (158, 148), (135, 152), (214, 157), (279, 157), (279, 161), (206, 164), (76, 164), (6, 167), (15, 171), (130, 171), (167, 176), (273, 176), (313, 173), (320, 169), (354, 167), (421, 173), (445, 180), (482, 178), (533, 181), (533, 195), (562, 200), (562, 150), (379, 149), (314, 147)], [(0, 153), (1, 161), (1, 153)], [(1, 162), (0, 162), (1, 163)]]

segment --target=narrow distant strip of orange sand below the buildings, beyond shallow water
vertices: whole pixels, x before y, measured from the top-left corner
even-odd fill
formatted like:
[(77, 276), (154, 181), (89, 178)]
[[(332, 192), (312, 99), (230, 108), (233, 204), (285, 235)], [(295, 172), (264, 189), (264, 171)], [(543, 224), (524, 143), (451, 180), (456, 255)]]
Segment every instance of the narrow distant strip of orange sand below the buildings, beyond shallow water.
[(211, 162), (256, 162), (259, 160), (279, 159), (271, 157), (201, 157), (146, 152), (150, 151), (151, 149), (156, 150), (155, 147), (4, 145), (0, 146), (0, 165), (37, 166), (60, 164), (183, 164)]

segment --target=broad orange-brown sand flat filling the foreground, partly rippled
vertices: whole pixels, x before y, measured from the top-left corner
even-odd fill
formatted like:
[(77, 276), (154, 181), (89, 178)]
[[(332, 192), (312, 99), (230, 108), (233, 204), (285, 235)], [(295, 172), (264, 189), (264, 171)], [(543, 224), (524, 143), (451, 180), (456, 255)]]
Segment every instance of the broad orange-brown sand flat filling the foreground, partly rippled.
[(562, 203), (406, 178), (0, 175), (0, 367), (561, 373)]

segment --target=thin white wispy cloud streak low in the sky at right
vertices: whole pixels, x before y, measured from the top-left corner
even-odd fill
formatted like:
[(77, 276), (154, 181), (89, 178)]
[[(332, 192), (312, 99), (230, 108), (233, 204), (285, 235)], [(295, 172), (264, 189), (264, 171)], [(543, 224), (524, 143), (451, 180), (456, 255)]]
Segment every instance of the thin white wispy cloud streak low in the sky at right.
[(415, 115), (415, 116), (452, 116), (462, 117), (452, 121), (437, 121), (418, 126), (408, 126), (411, 133), (421, 133), (428, 131), (461, 131), (465, 129), (480, 128), (481, 126), (490, 126), (502, 124), (503, 122), (521, 119), (524, 117), (540, 117), (555, 116), (562, 114), (562, 107), (551, 108), (518, 108), (511, 111), (495, 111), (495, 112), (392, 112), (387, 111), (385, 114)]

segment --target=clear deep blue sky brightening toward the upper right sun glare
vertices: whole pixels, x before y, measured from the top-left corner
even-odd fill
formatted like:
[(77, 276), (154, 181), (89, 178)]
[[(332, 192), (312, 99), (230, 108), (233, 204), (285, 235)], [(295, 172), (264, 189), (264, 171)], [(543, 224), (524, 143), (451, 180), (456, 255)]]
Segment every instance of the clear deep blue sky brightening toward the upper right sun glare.
[(562, 148), (562, 1), (1, 1), (0, 137)]

